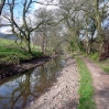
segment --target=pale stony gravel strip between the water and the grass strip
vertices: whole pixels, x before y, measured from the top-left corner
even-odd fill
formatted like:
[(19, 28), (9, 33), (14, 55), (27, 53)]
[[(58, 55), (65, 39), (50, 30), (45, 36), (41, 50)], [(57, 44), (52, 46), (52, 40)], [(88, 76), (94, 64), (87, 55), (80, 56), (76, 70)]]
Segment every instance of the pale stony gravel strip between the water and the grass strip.
[(76, 61), (68, 56), (57, 81), (25, 109), (77, 109), (78, 79)]

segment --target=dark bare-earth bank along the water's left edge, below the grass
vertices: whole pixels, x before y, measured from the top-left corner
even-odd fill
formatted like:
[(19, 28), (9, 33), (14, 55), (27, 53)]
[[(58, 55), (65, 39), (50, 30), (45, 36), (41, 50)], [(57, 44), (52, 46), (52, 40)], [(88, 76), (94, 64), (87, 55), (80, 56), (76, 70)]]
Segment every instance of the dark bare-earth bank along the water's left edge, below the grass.
[(59, 55), (61, 54), (53, 55), (53, 56), (34, 57), (30, 61), (22, 61), (18, 64), (1, 65), (0, 66), (0, 79), (34, 69), (35, 67), (39, 67), (45, 64), (46, 62), (48, 62), (50, 59), (55, 58)]

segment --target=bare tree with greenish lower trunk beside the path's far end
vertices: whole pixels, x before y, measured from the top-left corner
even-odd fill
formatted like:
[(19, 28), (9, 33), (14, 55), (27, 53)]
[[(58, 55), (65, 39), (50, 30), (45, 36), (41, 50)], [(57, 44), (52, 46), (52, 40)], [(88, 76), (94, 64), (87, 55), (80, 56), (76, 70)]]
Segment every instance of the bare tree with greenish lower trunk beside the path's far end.
[[(59, 0), (61, 2), (61, 12), (64, 18), (64, 25), (67, 29), (67, 41), (73, 47), (73, 51), (80, 51), (80, 30), (84, 28), (84, 18), (81, 15), (83, 11), (79, 9), (83, 3), (79, 1), (73, 0)], [(80, 7), (78, 7), (78, 4)]]

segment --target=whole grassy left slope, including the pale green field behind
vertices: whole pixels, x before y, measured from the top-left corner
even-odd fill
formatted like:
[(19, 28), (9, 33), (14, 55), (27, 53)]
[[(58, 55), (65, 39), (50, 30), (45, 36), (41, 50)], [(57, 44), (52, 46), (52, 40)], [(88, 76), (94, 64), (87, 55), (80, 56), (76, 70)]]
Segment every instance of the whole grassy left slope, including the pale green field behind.
[(42, 56), (41, 52), (34, 52), (29, 54), (22, 48), (23, 45), (19, 45), (11, 40), (0, 39), (0, 64), (15, 64), (20, 61), (28, 61), (34, 56)]

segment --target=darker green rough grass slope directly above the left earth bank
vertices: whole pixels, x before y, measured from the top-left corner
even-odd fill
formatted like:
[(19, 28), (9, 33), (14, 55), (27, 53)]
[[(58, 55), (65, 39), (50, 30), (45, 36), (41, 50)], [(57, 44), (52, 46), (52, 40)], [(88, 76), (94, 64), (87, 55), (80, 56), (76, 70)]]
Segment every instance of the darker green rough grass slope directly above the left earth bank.
[(28, 52), (22, 50), (0, 47), (0, 64), (15, 64), (22, 61), (29, 61), (34, 57), (40, 57), (43, 54), (41, 52), (33, 52), (33, 54), (29, 54)]

